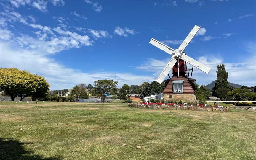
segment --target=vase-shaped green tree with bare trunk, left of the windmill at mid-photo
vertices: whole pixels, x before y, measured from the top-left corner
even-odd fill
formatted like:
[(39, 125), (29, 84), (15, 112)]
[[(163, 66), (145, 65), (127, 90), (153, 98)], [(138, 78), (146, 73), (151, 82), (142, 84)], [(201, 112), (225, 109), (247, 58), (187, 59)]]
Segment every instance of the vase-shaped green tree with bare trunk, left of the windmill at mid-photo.
[(95, 92), (100, 95), (101, 102), (104, 103), (106, 99), (106, 94), (111, 92), (111, 90), (116, 89), (117, 81), (102, 79), (94, 81)]

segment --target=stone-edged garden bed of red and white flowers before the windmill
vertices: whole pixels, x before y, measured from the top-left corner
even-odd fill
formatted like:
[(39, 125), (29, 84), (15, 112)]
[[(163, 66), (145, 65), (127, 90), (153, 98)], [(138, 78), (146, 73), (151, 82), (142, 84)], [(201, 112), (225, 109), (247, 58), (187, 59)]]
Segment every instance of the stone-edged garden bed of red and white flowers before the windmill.
[(211, 105), (191, 105), (191, 104), (174, 104), (174, 103), (130, 103), (129, 107), (147, 108), (147, 109), (170, 109), (170, 110), (199, 110), (199, 111), (224, 111), (228, 112), (228, 107), (211, 106)]

